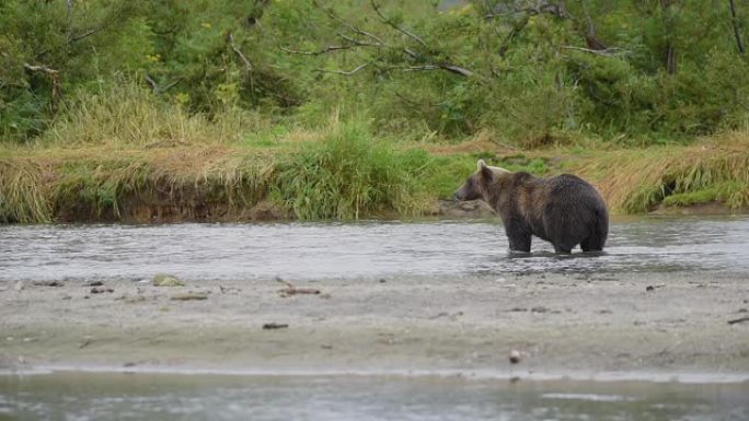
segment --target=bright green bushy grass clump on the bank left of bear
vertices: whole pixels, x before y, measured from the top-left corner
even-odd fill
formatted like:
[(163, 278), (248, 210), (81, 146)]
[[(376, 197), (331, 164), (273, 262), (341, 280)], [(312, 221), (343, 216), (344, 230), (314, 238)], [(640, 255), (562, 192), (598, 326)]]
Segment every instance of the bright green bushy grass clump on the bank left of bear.
[(333, 124), (321, 142), (280, 165), (274, 195), (300, 219), (417, 214), (429, 162), (424, 151), (396, 151), (372, 139), (362, 124)]

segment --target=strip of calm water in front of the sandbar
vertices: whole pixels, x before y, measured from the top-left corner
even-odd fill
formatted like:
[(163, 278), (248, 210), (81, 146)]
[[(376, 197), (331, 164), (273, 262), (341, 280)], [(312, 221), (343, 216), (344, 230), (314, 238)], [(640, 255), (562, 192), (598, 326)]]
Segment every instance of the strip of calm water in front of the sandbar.
[(0, 376), (2, 420), (747, 420), (749, 384), (401, 376)]

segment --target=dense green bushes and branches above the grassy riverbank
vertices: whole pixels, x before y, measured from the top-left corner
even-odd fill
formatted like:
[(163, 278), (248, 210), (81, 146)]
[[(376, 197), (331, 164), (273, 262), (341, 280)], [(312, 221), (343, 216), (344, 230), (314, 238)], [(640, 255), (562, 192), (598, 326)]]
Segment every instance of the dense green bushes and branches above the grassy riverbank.
[(4, 0), (0, 137), (163, 141), (142, 104), (223, 125), (169, 141), (337, 109), (412, 140), (649, 144), (747, 130), (747, 43), (746, 0)]

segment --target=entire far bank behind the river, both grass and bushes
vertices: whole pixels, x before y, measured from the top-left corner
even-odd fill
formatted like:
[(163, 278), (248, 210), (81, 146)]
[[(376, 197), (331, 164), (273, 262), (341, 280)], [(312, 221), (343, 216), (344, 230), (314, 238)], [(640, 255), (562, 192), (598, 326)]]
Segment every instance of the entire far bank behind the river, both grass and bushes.
[(0, 223), (434, 214), (479, 157), (749, 203), (745, 5), (251, 3), (2, 2)]

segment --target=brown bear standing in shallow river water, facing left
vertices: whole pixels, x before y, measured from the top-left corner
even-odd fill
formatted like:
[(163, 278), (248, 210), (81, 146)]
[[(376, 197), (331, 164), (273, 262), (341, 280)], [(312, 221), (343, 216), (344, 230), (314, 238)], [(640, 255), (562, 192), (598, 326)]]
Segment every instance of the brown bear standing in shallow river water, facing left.
[(510, 250), (530, 253), (531, 236), (568, 254), (600, 252), (609, 233), (609, 212), (594, 186), (562, 174), (550, 178), (512, 173), (479, 161), (479, 168), (456, 191), (458, 200), (483, 199), (502, 218)]

